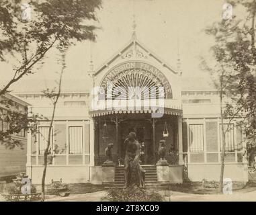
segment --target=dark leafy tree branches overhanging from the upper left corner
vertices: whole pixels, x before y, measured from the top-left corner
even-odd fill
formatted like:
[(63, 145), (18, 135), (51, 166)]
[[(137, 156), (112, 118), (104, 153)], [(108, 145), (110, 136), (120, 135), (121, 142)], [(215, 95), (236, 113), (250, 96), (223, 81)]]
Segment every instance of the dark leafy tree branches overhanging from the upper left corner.
[[(11, 56), (15, 60), (13, 71), (1, 71), (1, 77), (11, 74), (11, 79), (0, 87), (1, 98), (9, 92), (11, 85), (35, 73), (34, 67), (45, 62), (44, 58), (52, 48), (60, 50), (76, 41), (95, 40), (96, 27), (88, 21), (97, 21), (95, 13), (101, 8), (101, 0), (30, 0), (28, 5), (32, 9), (32, 19), (26, 20), (22, 17), (21, 2), (0, 1), (0, 60), (5, 61)], [(11, 140), (13, 132), (27, 128), (30, 120), (27, 114), (23, 117), (26, 123), (1, 131), (0, 140)], [(9, 124), (15, 124), (15, 118), (17, 116), (9, 117)], [(6, 141), (1, 142), (7, 144)], [(11, 147), (17, 145), (19, 143), (13, 140), (8, 143)]]

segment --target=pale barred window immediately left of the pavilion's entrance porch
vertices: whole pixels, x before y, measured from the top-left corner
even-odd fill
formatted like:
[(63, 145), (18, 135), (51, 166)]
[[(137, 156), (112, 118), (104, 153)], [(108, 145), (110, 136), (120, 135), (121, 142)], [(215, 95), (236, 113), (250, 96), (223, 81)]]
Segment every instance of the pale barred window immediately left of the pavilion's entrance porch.
[(69, 154), (79, 155), (83, 153), (83, 127), (69, 127)]

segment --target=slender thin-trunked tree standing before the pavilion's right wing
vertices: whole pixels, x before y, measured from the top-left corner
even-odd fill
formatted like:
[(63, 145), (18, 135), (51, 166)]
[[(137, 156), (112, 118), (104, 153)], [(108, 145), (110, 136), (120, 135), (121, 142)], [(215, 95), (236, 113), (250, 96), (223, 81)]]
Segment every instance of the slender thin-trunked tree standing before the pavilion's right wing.
[[(241, 106), (234, 106), (234, 102), (240, 102), (237, 94), (237, 74), (232, 69), (230, 56), (225, 52), (221, 42), (212, 47), (216, 63), (209, 67), (206, 60), (202, 60), (202, 66), (208, 71), (218, 89), (220, 97), (220, 136), (221, 136), (221, 160), (220, 160), (220, 181), (218, 191), (222, 193), (224, 177), (224, 159), (226, 152), (226, 134), (231, 129), (232, 120), (241, 116)], [(231, 98), (231, 99), (230, 99)], [(225, 121), (225, 122), (224, 122)], [(226, 124), (226, 126), (224, 126)]]

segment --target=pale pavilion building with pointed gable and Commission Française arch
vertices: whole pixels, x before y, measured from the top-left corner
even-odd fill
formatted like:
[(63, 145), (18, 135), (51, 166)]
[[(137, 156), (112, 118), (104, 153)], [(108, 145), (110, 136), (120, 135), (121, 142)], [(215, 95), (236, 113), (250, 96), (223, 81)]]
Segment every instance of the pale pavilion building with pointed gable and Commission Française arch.
[[(116, 168), (124, 164), (124, 140), (131, 131), (140, 144), (144, 142), (142, 165), (155, 167), (157, 181), (219, 180), (222, 138), (217, 89), (196, 88), (204, 85), (201, 79), (184, 79), (135, 34), (91, 72), (94, 91), (60, 94), (46, 182), (60, 178), (66, 183), (114, 182)], [(42, 93), (18, 95), (32, 104), (34, 112), (50, 117), (52, 108)], [(226, 133), (224, 177), (248, 181), (245, 135), (238, 122), (239, 118), (232, 120)], [(49, 122), (40, 121), (38, 134), (28, 134), (27, 173), (33, 183), (41, 181), (48, 126)], [(167, 167), (156, 166), (163, 138)], [(114, 144), (114, 167), (103, 165), (108, 143)]]

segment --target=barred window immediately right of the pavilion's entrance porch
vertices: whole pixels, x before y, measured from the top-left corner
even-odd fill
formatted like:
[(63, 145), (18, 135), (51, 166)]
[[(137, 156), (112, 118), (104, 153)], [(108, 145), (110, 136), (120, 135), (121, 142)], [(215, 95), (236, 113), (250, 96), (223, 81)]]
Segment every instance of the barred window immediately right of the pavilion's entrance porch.
[(189, 124), (189, 148), (191, 153), (204, 152), (203, 124)]

